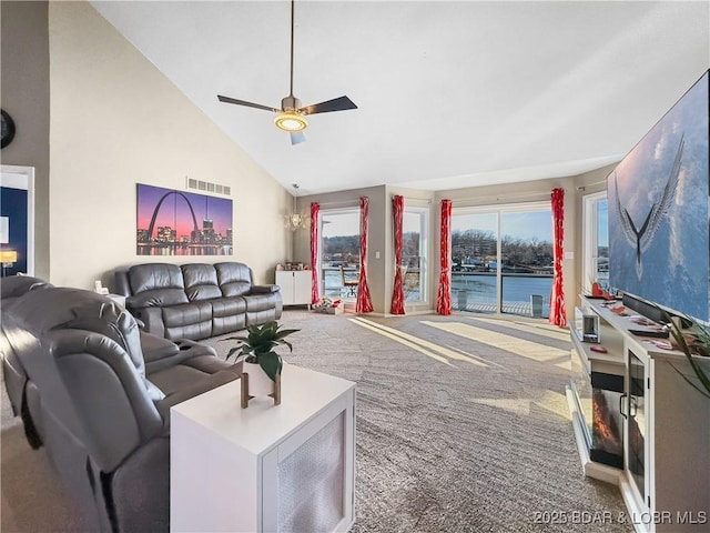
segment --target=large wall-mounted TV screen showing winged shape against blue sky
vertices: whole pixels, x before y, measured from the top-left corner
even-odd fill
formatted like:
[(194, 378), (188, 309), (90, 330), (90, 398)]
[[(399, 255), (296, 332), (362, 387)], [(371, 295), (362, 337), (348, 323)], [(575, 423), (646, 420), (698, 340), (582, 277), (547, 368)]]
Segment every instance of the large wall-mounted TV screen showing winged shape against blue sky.
[(607, 178), (609, 285), (710, 321), (708, 72)]

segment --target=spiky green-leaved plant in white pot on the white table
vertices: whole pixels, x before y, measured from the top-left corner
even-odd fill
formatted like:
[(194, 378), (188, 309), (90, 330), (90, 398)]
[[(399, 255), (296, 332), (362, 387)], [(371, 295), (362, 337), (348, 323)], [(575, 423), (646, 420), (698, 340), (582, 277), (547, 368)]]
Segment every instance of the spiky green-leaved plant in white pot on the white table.
[[(239, 343), (230, 350), (226, 355), (229, 360), (236, 354), (236, 361), (244, 361), (243, 372), (248, 373), (252, 380), (258, 379), (255, 372), (261, 368), (264, 374), (272, 382), (276, 382), (276, 375), (281, 374), (283, 360), (281, 355), (274, 351), (278, 344), (285, 344), (293, 352), (293, 346), (286, 340), (292, 333), (301, 330), (282, 330), (281, 325), (275, 321), (268, 321), (262, 325), (247, 325), (247, 335), (230, 336), (225, 341), (239, 341)], [(251, 365), (251, 366), (250, 366)], [(254, 382), (254, 384), (256, 384)], [(252, 383), (250, 383), (251, 389)]]

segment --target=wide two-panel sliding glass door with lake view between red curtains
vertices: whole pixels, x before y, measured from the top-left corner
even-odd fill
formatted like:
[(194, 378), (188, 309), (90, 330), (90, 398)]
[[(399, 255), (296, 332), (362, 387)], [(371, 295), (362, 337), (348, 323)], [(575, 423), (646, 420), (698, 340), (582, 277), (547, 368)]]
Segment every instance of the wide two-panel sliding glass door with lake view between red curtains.
[(452, 252), (455, 310), (549, 315), (552, 288), (549, 203), (455, 208)]

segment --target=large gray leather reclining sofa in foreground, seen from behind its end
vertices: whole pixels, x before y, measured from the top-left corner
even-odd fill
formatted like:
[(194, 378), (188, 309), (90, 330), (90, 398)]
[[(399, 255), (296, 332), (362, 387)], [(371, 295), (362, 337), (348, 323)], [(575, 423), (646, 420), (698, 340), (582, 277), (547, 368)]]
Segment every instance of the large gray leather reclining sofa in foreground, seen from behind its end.
[(30, 445), (44, 446), (89, 531), (168, 532), (170, 408), (241, 364), (141, 332), (91, 291), (14, 276), (0, 288), (6, 388)]

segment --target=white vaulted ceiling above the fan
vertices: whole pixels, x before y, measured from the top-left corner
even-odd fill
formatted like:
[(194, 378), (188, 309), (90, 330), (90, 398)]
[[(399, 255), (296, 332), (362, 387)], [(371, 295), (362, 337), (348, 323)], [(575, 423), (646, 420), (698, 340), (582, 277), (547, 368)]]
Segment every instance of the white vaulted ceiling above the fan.
[[(710, 66), (707, 1), (300, 1), (294, 94), (348, 95), (291, 145), (287, 1), (93, 1), (276, 180), (303, 193), (574, 175), (618, 161)], [(189, 128), (186, 128), (189, 131)]]

